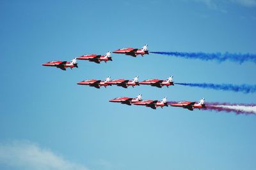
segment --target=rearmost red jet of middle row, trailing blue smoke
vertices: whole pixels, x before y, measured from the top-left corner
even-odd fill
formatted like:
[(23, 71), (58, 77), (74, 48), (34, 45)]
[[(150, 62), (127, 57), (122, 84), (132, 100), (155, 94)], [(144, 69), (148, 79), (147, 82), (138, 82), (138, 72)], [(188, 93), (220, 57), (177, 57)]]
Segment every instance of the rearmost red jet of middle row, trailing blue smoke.
[(141, 81), (139, 84), (151, 85), (153, 87), (158, 87), (158, 88), (162, 88), (164, 85), (166, 85), (166, 87), (169, 87), (170, 85), (174, 85), (173, 76), (170, 76), (167, 80), (150, 79), (150, 80)]

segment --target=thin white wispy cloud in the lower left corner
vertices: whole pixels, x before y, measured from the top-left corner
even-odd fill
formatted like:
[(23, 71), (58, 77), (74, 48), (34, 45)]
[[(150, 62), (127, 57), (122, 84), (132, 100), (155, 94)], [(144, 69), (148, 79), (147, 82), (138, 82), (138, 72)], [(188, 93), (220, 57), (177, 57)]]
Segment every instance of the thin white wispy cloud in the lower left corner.
[(0, 164), (27, 170), (88, 170), (29, 141), (0, 143)]

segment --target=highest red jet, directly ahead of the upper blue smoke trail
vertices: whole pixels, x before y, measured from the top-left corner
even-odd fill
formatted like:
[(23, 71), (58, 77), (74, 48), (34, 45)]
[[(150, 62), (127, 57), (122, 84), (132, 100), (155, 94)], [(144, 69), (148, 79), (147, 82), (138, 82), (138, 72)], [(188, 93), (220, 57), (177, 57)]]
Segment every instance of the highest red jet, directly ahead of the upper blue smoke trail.
[(138, 48), (120, 48), (118, 50), (113, 51), (113, 53), (125, 53), (125, 55), (131, 55), (132, 57), (136, 57), (137, 55), (141, 55), (143, 57), (144, 54), (148, 54), (148, 45), (144, 45), (141, 49), (138, 49)]

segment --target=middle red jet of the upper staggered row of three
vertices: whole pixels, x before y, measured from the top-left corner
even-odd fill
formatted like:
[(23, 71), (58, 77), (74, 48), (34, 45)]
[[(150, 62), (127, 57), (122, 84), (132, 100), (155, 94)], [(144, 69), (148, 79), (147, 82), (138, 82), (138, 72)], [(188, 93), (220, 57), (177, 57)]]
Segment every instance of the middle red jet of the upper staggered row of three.
[(96, 55), (96, 54), (90, 54), (90, 55), (83, 55), (81, 57), (77, 57), (77, 60), (89, 60), (91, 62), (96, 62), (97, 64), (100, 64), (101, 61), (104, 61), (107, 63), (107, 61), (112, 60), (112, 57), (110, 57), (111, 51), (105, 53), (105, 55)]

